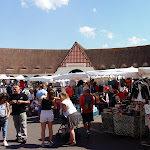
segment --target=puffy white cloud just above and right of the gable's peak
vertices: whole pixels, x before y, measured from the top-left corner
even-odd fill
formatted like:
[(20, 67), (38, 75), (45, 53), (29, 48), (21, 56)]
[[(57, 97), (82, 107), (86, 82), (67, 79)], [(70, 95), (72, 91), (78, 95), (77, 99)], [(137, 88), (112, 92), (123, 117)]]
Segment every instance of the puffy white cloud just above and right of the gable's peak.
[(95, 37), (95, 28), (90, 28), (88, 26), (80, 27), (79, 32), (86, 38)]

